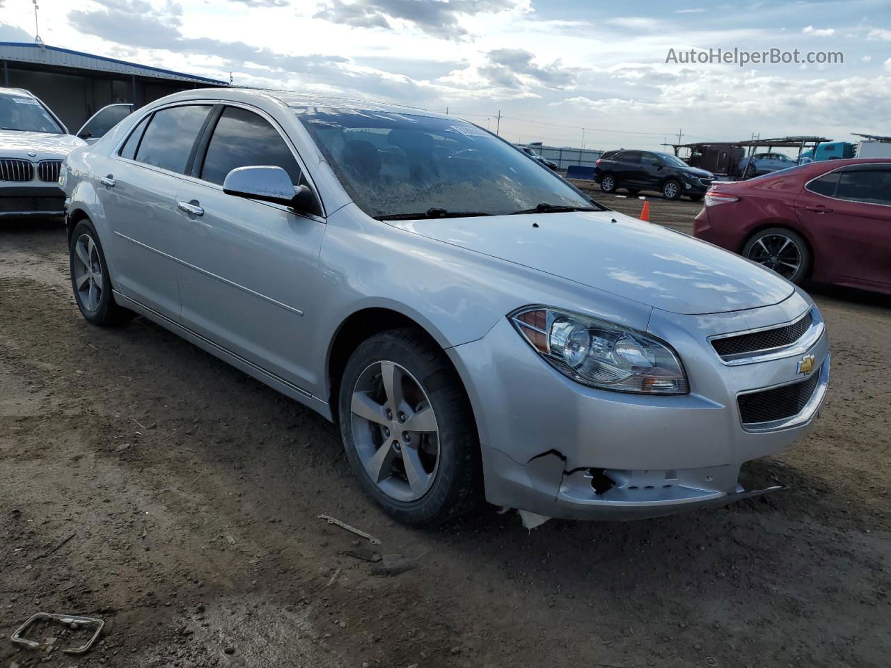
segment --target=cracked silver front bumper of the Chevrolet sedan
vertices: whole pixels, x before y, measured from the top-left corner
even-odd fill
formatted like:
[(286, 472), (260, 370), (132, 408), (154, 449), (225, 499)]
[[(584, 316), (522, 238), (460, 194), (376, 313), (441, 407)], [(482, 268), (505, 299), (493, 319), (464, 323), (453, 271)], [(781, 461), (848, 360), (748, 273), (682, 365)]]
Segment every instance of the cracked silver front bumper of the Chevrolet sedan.
[[(643, 396), (584, 387), (544, 363), (505, 319), (449, 354), (478, 422), (486, 499), (548, 517), (631, 519), (720, 506), (777, 489), (740, 483), (740, 468), (813, 428), (830, 374), (825, 332), (807, 354), (820, 379), (789, 427), (743, 428), (737, 397), (796, 379), (794, 358), (728, 366), (707, 337), (796, 319), (799, 293), (736, 314), (654, 311), (650, 332), (672, 342), (691, 394)], [(800, 357), (797, 353), (797, 357)]]

